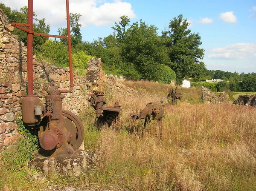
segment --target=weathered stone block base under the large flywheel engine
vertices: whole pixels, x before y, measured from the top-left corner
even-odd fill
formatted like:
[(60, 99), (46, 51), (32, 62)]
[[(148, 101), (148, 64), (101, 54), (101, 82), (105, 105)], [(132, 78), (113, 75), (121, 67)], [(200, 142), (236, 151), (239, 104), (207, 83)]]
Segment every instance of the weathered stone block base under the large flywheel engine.
[(58, 157), (35, 157), (31, 160), (31, 169), (44, 173), (60, 173), (79, 176), (86, 168), (86, 152), (78, 150), (75, 155)]

